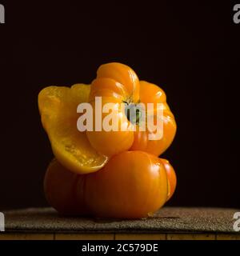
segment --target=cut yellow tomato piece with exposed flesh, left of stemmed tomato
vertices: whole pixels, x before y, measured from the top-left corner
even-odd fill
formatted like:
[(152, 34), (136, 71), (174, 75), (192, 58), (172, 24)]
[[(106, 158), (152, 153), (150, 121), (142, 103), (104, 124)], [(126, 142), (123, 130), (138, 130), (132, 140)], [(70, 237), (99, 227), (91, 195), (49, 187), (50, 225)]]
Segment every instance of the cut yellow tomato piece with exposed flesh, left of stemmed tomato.
[(49, 86), (38, 94), (42, 126), (54, 155), (62, 166), (78, 174), (99, 170), (108, 160), (90, 146), (86, 132), (77, 128), (78, 104), (87, 102), (89, 94), (90, 86), (83, 84)]

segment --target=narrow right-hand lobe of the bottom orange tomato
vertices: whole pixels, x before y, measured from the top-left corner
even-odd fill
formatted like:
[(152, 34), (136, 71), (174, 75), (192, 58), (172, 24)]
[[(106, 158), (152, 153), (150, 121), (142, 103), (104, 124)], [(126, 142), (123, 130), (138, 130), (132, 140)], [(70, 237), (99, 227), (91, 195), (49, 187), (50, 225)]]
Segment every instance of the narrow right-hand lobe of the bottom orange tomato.
[(167, 194), (167, 198), (166, 201), (168, 201), (174, 194), (174, 191), (176, 189), (177, 186), (177, 176), (176, 173), (174, 171), (174, 167), (170, 165), (170, 162), (166, 159), (161, 158), (161, 161), (166, 169), (166, 175), (167, 175), (167, 179), (168, 179), (168, 194)]

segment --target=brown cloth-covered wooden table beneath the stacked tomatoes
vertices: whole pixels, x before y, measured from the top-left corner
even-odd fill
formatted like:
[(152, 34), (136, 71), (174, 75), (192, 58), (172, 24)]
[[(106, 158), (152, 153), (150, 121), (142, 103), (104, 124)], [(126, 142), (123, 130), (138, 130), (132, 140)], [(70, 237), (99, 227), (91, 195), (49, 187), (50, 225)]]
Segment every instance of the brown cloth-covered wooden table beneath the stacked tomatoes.
[(52, 208), (10, 210), (1, 239), (240, 239), (238, 209), (164, 207), (150, 218), (64, 217)]

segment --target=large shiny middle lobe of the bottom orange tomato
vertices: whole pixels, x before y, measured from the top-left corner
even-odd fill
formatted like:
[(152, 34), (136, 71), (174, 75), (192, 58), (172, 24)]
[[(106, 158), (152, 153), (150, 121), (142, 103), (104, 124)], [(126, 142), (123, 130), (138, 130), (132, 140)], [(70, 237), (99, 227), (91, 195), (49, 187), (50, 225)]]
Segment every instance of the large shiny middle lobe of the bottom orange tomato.
[(147, 217), (163, 206), (168, 193), (160, 158), (142, 151), (114, 156), (102, 170), (86, 175), (85, 186), (90, 212), (102, 218)]

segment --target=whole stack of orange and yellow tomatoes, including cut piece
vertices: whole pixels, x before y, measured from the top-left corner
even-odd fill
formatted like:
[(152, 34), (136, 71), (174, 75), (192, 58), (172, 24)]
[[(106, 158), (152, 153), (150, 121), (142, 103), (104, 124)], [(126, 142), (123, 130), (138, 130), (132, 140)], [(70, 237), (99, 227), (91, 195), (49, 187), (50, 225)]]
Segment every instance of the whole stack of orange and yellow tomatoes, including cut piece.
[[(95, 129), (107, 114), (96, 106), (117, 107), (117, 127)], [(80, 103), (92, 106), (93, 130), (79, 131)], [(151, 115), (162, 106), (162, 136), (140, 129), (127, 109), (139, 103), (153, 104)], [(125, 106), (124, 105), (124, 106)], [(100, 66), (91, 85), (49, 86), (38, 95), (42, 125), (48, 134), (55, 159), (46, 171), (44, 190), (51, 206), (61, 214), (102, 218), (143, 218), (154, 214), (174, 194), (176, 175), (165, 159), (158, 158), (171, 144), (176, 122), (158, 86), (139, 81), (134, 70), (121, 63)], [(101, 107), (102, 107), (101, 106)], [(140, 111), (140, 112), (139, 112)], [(141, 114), (138, 109), (137, 117)], [(148, 113), (147, 113), (148, 114)]]

